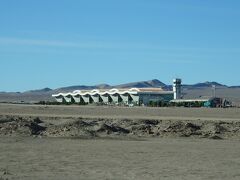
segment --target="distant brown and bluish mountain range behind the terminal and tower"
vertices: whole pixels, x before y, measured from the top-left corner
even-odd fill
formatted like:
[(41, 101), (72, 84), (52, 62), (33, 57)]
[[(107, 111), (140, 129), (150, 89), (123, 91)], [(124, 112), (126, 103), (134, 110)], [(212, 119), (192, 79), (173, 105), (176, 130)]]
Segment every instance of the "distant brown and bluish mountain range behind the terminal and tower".
[[(234, 101), (239, 101), (240, 103), (240, 86), (227, 86), (217, 82), (203, 82), (197, 84), (183, 84), (183, 94), (185, 98), (198, 98), (203, 96), (211, 96), (212, 86), (215, 86), (217, 89), (217, 94), (221, 97), (226, 97), (234, 99)], [(57, 89), (37, 89), (30, 90), (26, 92), (0, 92), (0, 102), (36, 102), (40, 100), (53, 100), (51, 97), (52, 94), (59, 92), (72, 92), (74, 90), (90, 90), (90, 89), (111, 89), (111, 88), (163, 88), (164, 90), (172, 90), (172, 85), (167, 85), (158, 79), (153, 79), (149, 81), (139, 81), (132, 82), (120, 85), (108, 85), (108, 84), (99, 84), (93, 86), (68, 86), (61, 87)], [(239, 97), (238, 97), (239, 96)]]

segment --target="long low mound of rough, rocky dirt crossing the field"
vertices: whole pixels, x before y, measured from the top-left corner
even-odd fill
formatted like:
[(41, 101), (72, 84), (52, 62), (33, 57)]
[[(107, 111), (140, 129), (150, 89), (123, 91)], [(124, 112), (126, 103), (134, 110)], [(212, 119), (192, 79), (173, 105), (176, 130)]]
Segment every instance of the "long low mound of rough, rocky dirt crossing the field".
[[(58, 121), (55, 119), (55, 121)], [(65, 123), (45, 123), (39, 118), (0, 118), (0, 136), (46, 137), (195, 137), (229, 139), (240, 137), (240, 122), (75, 119)]]

